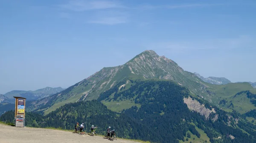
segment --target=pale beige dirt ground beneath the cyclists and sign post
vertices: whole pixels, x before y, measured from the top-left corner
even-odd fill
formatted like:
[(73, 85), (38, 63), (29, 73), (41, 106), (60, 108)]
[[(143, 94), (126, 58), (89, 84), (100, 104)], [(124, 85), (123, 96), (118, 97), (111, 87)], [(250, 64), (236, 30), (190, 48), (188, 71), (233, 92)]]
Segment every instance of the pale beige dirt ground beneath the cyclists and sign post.
[[(102, 136), (73, 134), (72, 132), (14, 127), (0, 124), (0, 143), (112, 143)], [(117, 138), (113, 143), (138, 143)]]

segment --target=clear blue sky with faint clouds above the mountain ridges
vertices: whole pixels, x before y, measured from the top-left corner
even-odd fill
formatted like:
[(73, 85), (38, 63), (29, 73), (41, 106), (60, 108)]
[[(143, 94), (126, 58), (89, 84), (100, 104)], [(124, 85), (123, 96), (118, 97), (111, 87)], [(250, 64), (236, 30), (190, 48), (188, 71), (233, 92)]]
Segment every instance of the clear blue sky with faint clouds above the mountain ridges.
[(255, 0), (2, 0), (0, 93), (67, 88), (150, 49), (255, 82), (255, 15)]

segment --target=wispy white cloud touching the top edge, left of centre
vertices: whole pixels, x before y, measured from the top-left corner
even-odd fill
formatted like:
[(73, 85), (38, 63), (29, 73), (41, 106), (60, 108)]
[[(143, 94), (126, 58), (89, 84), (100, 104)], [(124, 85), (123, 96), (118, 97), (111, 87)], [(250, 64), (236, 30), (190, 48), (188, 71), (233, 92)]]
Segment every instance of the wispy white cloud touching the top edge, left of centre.
[(116, 1), (107, 0), (70, 0), (68, 3), (59, 5), (61, 8), (72, 11), (87, 11), (97, 9), (122, 8)]

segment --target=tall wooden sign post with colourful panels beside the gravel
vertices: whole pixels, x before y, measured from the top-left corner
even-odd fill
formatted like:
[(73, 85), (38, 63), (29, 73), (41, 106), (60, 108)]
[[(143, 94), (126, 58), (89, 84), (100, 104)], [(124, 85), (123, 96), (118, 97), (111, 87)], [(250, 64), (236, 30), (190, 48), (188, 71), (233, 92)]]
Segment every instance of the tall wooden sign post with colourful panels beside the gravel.
[(15, 126), (24, 127), (26, 98), (15, 97)]

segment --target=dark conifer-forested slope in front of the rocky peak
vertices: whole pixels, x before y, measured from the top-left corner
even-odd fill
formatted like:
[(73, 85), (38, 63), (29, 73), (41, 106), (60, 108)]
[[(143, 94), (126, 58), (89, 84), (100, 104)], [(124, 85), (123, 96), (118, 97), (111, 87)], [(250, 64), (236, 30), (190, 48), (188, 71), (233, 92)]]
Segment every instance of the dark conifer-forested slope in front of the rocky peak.
[[(130, 88), (119, 88), (127, 81), (132, 83)], [(79, 101), (66, 104), (44, 117), (28, 113), (26, 125), (73, 129), (75, 123), (79, 122), (85, 123), (86, 132), (89, 132), (92, 124), (98, 126), (97, 132), (100, 134), (105, 134), (107, 127), (111, 126), (116, 130), (117, 137), (159, 143), (179, 143), (186, 138), (195, 138), (199, 142), (207, 140), (207, 143), (256, 141), (256, 126), (251, 126), (243, 116), (227, 113), (193, 97), (187, 88), (173, 81), (124, 79), (99, 95), (97, 100), (128, 100), (140, 107), (133, 106), (118, 113), (95, 100)], [(6, 112), (0, 121), (12, 121), (13, 114)]]

